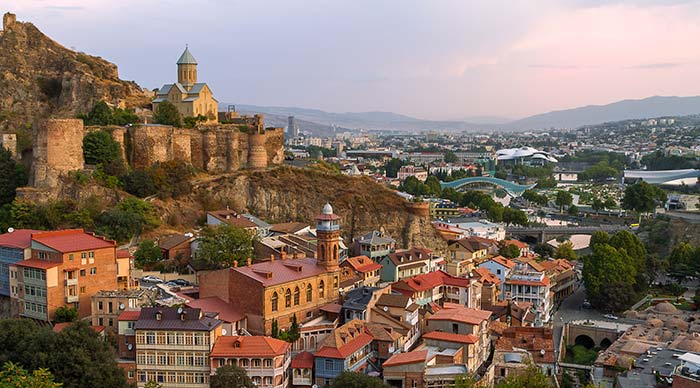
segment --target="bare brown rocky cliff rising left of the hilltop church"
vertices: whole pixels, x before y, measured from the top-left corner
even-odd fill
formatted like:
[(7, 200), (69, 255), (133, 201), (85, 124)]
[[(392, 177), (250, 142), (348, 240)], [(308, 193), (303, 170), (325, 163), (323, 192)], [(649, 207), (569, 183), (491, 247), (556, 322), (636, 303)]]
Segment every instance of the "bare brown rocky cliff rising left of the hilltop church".
[(117, 66), (69, 50), (31, 23), (3, 18), (0, 32), (0, 129), (36, 118), (75, 117), (100, 100), (139, 107), (149, 98), (134, 82), (119, 79)]

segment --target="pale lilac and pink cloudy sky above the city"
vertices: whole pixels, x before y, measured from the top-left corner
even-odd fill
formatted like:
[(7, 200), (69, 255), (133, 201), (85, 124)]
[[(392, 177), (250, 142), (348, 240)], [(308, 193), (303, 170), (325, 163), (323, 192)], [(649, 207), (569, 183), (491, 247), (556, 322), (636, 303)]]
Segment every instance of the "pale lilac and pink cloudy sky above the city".
[(700, 95), (700, 0), (3, 0), (153, 89), (186, 44), (220, 102), (520, 118)]

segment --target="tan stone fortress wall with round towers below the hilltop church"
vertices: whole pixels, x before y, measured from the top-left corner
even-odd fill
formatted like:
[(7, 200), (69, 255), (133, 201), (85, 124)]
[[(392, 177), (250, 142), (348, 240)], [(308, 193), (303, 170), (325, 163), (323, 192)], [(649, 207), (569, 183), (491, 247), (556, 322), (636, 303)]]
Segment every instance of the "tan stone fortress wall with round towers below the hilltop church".
[[(263, 127), (262, 115), (236, 117), (225, 124), (196, 128), (141, 125), (107, 128), (121, 144), (132, 168), (180, 160), (210, 174), (243, 168), (266, 168), (284, 161), (284, 128)], [(84, 127), (80, 119), (48, 119), (34, 129), (30, 185), (52, 188), (60, 176), (85, 168), (83, 137), (101, 127)]]

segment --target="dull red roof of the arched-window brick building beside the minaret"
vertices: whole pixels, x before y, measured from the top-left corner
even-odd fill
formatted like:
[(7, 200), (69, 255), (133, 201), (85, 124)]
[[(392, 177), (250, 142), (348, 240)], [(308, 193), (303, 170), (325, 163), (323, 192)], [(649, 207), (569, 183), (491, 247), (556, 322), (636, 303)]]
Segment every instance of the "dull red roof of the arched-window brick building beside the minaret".
[(314, 277), (325, 273), (326, 269), (317, 265), (316, 259), (307, 257), (303, 259), (263, 261), (252, 264), (250, 267), (231, 268), (231, 271), (248, 276), (267, 287)]

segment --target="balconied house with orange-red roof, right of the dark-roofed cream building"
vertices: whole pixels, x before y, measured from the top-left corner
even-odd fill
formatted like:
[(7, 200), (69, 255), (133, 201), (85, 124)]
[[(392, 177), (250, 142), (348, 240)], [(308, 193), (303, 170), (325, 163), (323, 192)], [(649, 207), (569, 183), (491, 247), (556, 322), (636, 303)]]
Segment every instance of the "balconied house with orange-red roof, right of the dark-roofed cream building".
[(264, 336), (219, 337), (209, 356), (212, 374), (225, 365), (243, 368), (260, 388), (287, 388), (292, 345)]

